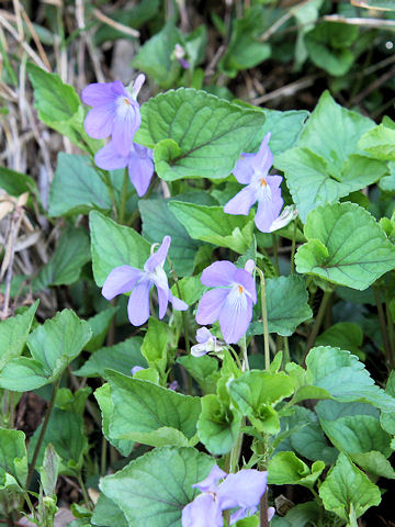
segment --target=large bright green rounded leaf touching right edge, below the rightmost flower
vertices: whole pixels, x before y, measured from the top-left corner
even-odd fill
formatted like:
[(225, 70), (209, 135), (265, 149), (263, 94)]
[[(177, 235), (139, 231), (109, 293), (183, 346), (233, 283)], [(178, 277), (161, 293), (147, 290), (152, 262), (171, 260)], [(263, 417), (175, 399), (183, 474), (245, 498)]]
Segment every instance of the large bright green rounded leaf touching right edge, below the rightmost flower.
[[(297, 272), (363, 290), (395, 266), (395, 248), (374, 217), (354, 203), (320, 206), (308, 214), (307, 244), (297, 249)], [(317, 254), (316, 240), (328, 254)]]

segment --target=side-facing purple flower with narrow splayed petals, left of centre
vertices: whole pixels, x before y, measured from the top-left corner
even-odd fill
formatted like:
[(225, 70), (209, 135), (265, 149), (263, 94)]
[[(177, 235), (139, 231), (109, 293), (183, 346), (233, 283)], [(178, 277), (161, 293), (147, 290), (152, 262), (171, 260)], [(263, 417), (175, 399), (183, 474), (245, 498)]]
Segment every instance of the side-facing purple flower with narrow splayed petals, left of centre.
[(163, 318), (169, 302), (174, 310), (188, 310), (185, 302), (171, 294), (163, 269), (170, 242), (170, 236), (165, 236), (158, 250), (144, 264), (143, 270), (131, 266), (115, 267), (105, 279), (102, 295), (106, 300), (132, 291), (127, 303), (127, 316), (134, 326), (140, 326), (149, 317), (149, 292), (153, 285), (158, 292), (159, 318)]

